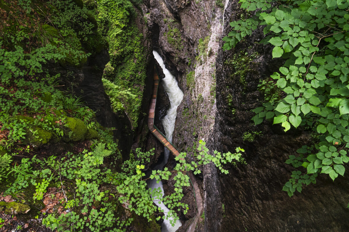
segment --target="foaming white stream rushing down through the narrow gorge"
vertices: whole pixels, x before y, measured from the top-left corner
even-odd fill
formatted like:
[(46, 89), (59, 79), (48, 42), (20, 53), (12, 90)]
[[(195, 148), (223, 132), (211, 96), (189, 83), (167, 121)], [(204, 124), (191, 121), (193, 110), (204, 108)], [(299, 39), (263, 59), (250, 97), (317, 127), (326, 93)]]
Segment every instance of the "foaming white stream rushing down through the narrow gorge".
[[(170, 107), (166, 112), (166, 116), (162, 119), (161, 124), (165, 129), (165, 135), (168, 138), (169, 141), (172, 142), (172, 133), (174, 130), (174, 123), (176, 122), (177, 117), (177, 107), (180, 104), (180, 102), (183, 99), (183, 92), (178, 87), (178, 83), (176, 81), (176, 78), (170, 73), (169, 70), (165, 68), (164, 61), (161, 58), (161, 56), (156, 52), (153, 51), (154, 57), (156, 61), (159, 63), (159, 65), (162, 68), (163, 73), (165, 74), (165, 78), (162, 79), (162, 85), (166, 91), (166, 93), (169, 96), (170, 99)], [(165, 157), (162, 163), (157, 165), (153, 170), (162, 170), (162, 168), (167, 163), (167, 160), (169, 158), (170, 151), (165, 148)], [(151, 179), (148, 181), (148, 187), (149, 189), (156, 189), (158, 187), (162, 190), (162, 195), (164, 195), (164, 189), (162, 186), (162, 182), (156, 183), (155, 179)], [(153, 199), (154, 203), (161, 207), (161, 209), (164, 210), (165, 216), (167, 215), (167, 212), (169, 209), (161, 202), (158, 203), (160, 199)], [(162, 229), (161, 232), (175, 232), (182, 224), (178, 220), (174, 226), (170, 224), (170, 220), (173, 220), (173, 218), (169, 218), (167, 220), (164, 220), (162, 223)]]

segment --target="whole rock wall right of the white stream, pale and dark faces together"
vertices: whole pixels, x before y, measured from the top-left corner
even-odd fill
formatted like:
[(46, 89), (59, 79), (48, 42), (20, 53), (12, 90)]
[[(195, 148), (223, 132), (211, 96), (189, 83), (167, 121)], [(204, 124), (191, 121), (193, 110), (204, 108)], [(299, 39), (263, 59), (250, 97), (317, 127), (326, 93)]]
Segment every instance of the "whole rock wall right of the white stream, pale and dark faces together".
[[(347, 199), (341, 187), (334, 188), (328, 178), (319, 180), (321, 188), (308, 186), (291, 199), (281, 191), (292, 170), (284, 162), (309, 142), (309, 134), (294, 130), (285, 135), (278, 126), (252, 126), (249, 122), (254, 115), (250, 110), (258, 107), (263, 97), (257, 87), (259, 80), (272, 74), (279, 64), (271, 61), (270, 47), (256, 43), (263, 38), (262, 29), (235, 49), (223, 51), (222, 38), (231, 30), (229, 22), (245, 17), (245, 12), (238, 1), (222, 4), (222, 8), (214, 1), (155, 0), (147, 4), (149, 26), (158, 35), (153, 36), (154, 47), (164, 57), (166, 67), (176, 74), (185, 93), (178, 108), (174, 144), (190, 154), (195, 154), (199, 139), (205, 140), (211, 150), (233, 151), (237, 146), (246, 150), (246, 164), (229, 168), (229, 175), (207, 165), (198, 176), (205, 217), (204, 226), (199, 225), (196, 231), (346, 230), (344, 224), (331, 223), (344, 220), (345, 209), (326, 201), (325, 192), (332, 192), (331, 198), (342, 206)], [(238, 77), (237, 67), (229, 64), (241, 57), (248, 62), (240, 64), (243, 77)], [(244, 133), (251, 131), (257, 131), (254, 141), (244, 141)], [(174, 165), (170, 157), (167, 166)], [(171, 192), (171, 188), (169, 181), (165, 192)], [(188, 199), (190, 195), (188, 191)], [(318, 203), (310, 206), (307, 202), (314, 197)], [(193, 215), (189, 211), (181, 218)]]

